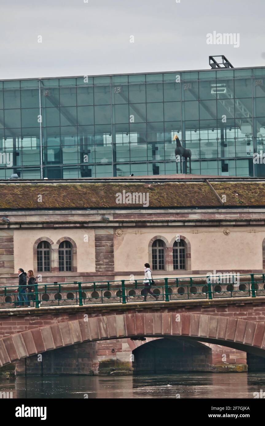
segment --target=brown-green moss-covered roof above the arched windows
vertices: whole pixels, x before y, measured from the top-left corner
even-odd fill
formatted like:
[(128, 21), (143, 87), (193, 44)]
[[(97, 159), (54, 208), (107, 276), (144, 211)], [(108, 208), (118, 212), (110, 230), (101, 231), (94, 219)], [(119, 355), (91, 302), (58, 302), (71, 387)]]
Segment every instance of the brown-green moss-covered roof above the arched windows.
[[(211, 187), (212, 186), (212, 187)], [(150, 207), (265, 206), (265, 181), (0, 183), (0, 209), (125, 208), (116, 194), (149, 193)], [(216, 195), (216, 193), (218, 196)]]

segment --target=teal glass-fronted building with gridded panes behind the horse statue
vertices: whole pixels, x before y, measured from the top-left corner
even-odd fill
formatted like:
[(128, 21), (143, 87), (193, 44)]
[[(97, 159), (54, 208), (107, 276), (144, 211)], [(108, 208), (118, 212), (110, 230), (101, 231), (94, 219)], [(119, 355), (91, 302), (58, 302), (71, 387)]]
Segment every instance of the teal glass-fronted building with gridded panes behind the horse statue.
[(175, 174), (175, 134), (192, 174), (265, 176), (265, 67), (0, 82), (0, 179)]

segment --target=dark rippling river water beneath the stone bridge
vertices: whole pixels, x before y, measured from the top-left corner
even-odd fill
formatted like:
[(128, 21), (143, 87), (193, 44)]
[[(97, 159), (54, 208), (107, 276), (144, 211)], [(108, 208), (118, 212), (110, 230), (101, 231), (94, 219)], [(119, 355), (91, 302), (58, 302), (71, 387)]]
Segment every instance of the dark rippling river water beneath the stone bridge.
[(263, 391), (265, 373), (47, 376), (0, 379), (13, 398), (246, 398)]

